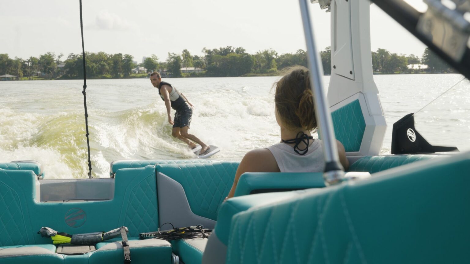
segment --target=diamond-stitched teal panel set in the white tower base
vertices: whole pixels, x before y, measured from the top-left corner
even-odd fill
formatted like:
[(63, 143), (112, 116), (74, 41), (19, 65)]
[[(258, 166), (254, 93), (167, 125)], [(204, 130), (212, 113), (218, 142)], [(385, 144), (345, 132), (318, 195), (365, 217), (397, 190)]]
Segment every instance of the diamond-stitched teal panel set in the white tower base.
[(331, 117), (336, 139), (343, 144), (346, 152), (359, 151), (366, 129), (359, 100), (352, 101), (333, 111)]

